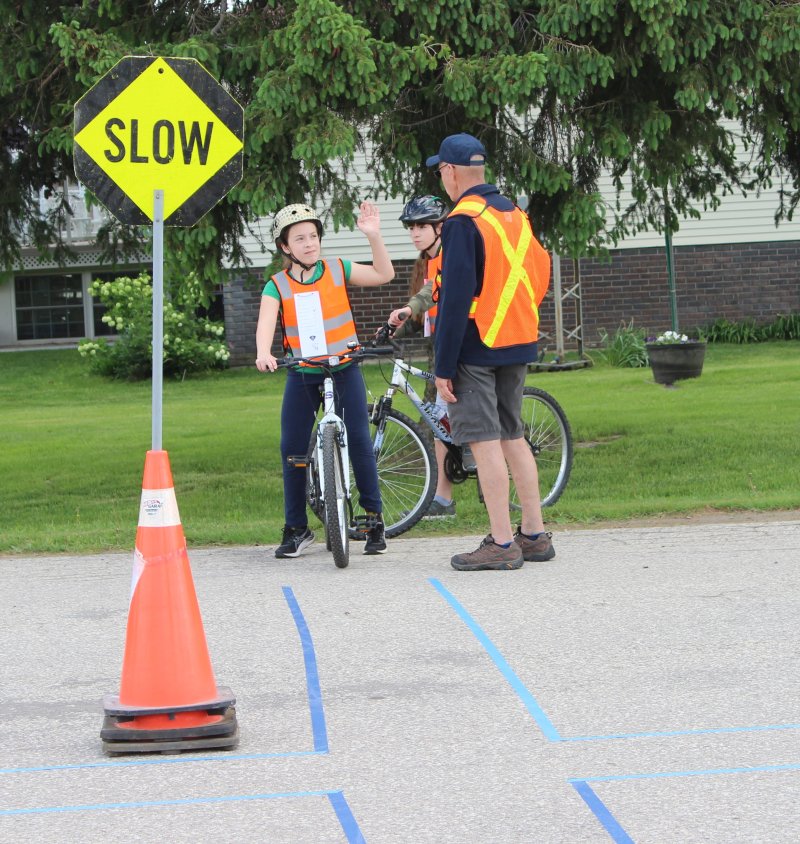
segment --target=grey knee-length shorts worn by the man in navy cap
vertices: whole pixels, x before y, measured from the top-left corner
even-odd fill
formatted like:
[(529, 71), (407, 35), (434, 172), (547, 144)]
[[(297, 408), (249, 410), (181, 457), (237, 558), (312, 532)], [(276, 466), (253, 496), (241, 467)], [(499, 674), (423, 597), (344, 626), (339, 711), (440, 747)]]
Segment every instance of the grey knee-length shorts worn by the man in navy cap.
[(453, 378), (458, 399), (449, 405), (457, 443), (516, 440), (523, 434), (522, 389), (528, 365), (472, 366), (460, 363)]

